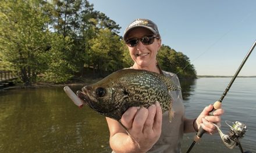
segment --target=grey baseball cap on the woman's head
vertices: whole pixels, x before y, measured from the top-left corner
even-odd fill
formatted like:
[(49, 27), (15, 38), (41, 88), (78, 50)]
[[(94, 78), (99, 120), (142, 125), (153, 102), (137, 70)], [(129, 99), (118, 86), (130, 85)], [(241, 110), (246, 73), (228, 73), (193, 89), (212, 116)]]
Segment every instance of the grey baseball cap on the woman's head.
[(157, 24), (148, 19), (136, 19), (125, 30), (125, 34), (123, 35), (123, 39), (126, 41), (127, 34), (133, 30), (134, 28), (143, 27), (152, 31), (156, 36), (160, 37)]

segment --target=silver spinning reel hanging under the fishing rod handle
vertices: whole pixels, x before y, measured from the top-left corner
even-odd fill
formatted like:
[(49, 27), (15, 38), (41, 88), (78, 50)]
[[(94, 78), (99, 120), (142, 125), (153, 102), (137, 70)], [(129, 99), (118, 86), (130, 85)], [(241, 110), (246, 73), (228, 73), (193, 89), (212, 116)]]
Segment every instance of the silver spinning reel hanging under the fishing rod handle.
[[(244, 137), (244, 134), (247, 131), (246, 125), (239, 121), (225, 121), (225, 123), (227, 126), (230, 127), (228, 134), (223, 134), (221, 128), (214, 123), (214, 126), (216, 126), (216, 128), (218, 129), (219, 135), (221, 136), (223, 143), (226, 145), (227, 148), (230, 149), (233, 149), (236, 145), (239, 145), (240, 151), (243, 152), (243, 148), (240, 144), (240, 139)], [(229, 123), (232, 123), (233, 125), (229, 125)]]

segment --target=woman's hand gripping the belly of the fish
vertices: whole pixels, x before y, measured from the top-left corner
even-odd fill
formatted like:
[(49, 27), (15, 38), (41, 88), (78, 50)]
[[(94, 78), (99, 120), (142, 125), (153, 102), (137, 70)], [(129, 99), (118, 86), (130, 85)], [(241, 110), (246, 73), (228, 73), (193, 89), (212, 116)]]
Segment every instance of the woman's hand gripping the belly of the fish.
[(148, 108), (129, 108), (121, 118), (136, 152), (147, 152), (158, 141), (162, 128), (162, 109), (157, 102)]

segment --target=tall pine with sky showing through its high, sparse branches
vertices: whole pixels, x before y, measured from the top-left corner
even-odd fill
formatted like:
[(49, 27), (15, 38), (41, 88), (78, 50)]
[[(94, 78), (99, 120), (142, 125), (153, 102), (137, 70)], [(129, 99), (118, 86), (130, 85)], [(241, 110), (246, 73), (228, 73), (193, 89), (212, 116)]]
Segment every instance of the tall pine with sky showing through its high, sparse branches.
[(52, 5), (53, 30), (73, 41), (72, 55), (66, 60), (77, 68), (74, 72), (80, 71), (83, 75), (84, 65), (91, 64), (88, 59), (88, 50), (91, 49), (89, 41), (98, 37), (99, 30), (105, 28), (117, 35), (120, 27), (104, 13), (95, 11), (93, 5), (86, 0), (54, 0)]

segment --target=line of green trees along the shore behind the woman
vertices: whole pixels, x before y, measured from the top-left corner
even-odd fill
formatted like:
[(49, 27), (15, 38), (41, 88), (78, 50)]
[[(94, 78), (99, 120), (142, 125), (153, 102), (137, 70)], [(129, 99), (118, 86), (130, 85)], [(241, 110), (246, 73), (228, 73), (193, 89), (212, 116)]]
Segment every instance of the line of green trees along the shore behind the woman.
[[(0, 70), (26, 85), (105, 77), (133, 64), (120, 28), (86, 0), (1, 0)], [(162, 45), (157, 58), (163, 70), (196, 78), (182, 52)]]

